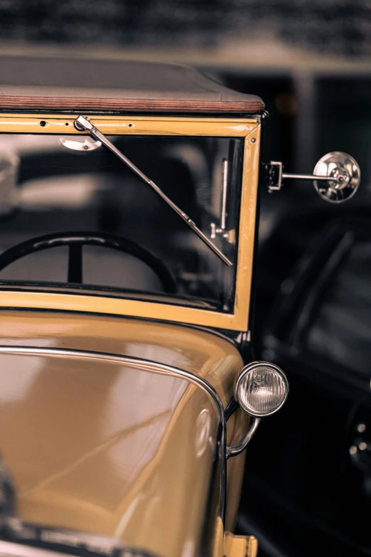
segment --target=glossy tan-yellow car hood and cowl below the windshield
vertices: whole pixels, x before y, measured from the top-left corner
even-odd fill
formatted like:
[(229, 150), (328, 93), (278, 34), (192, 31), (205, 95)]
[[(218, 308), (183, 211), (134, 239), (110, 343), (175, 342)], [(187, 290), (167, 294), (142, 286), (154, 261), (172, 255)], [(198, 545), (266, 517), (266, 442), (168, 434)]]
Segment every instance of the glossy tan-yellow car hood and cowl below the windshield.
[[(117, 323), (112, 339), (112, 322), (105, 331), (104, 320), (88, 327), (54, 316), (47, 336), (45, 322), (27, 319), (28, 336), (16, 319), (2, 344), (33, 352), (0, 352), (1, 451), (18, 515), (162, 556), (197, 554), (208, 501), (216, 505), (220, 489), (212, 481), (220, 410), (191, 374), (198, 368), (227, 400), (237, 351), (184, 327), (131, 320)], [(94, 357), (86, 352), (93, 334)], [(124, 359), (97, 354), (120, 346)], [(160, 362), (138, 361), (144, 357)], [(188, 376), (169, 371), (176, 364)]]

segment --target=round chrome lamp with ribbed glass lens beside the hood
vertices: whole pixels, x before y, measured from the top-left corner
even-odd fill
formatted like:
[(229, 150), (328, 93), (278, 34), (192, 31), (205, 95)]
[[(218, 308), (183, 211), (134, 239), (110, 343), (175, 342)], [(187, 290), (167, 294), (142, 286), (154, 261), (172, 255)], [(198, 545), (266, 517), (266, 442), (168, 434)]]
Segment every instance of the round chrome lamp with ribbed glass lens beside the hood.
[(242, 410), (260, 418), (274, 414), (289, 394), (284, 372), (267, 361), (255, 361), (242, 368), (235, 384), (235, 398)]

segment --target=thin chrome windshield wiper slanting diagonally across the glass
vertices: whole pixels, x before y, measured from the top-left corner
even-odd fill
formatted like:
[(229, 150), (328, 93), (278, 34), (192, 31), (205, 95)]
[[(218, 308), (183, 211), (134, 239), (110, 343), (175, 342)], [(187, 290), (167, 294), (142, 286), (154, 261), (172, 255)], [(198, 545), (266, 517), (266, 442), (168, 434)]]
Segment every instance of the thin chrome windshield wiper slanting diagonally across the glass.
[(163, 201), (165, 201), (168, 204), (168, 206), (170, 206), (173, 209), (173, 211), (175, 211), (178, 214), (178, 216), (183, 218), (183, 221), (187, 223), (190, 228), (192, 228), (193, 232), (195, 232), (198, 235), (198, 238), (203, 240), (203, 243), (205, 243), (208, 246), (208, 248), (210, 248), (210, 250), (213, 250), (213, 252), (217, 255), (217, 257), (222, 260), (222, 262), (225, 262), (225, 264), (228, 265), (229, 267), (232, 265), (232, 261), (230, 261), (224, 255), (224, 253), (222, 253), (222, 251), (219, 248), (217, 248), (217, 246), (211, 240), (209, 240), (208, 236), (205, 235), (202, 232), (202, 230), (198, 228), (198, 226), (196, 226), (196, 224), (192, 221), (192, 219), (184, 211), (182, 211), (181, 208), (179, 208), (178, 205), (176, 205), (176, 203), (171, 201), (171, 199), (168, 198), (166, 193), (163, 193), (161, 188), (159, 188), (154, 183), (154, 181), (150, 180), (149, 177), (146, 176), (146, 174), (144, 174), (141, 170), (139, 170), (139, 168), (135, 166), (135, 164), (132, 163), (127, 157), (125, 157), (125, 155), (121, 151), (119, 151), (117, 147), (114, 147), (114, 144), (111, 143), (109, 139), (107, 139), (107, 137), (104, 134), (102, 134), (102, 132), (100, 132), (99, 129), (93, 126), (93, 124), (90, 122), (88, 118), (85, 118), (84, 116), (81, 115), (78, 116), (75, 120), (75, 128), (78, 129), (79, 132), (82, 131), (89, 132), (93, 139), (102, 142), (104, 147), (107, 147), (109, 151), (114, 153), (117, 157), (119, 157), (119, 159), (122, 162), (127, 164), (127, 166), (129, 166), (129, 168), (132, 171), (134, 171), (135, 174), (137, 174), (137, 176), (139, 176), (139, 178), (141, 178), (144, 182), (146, 182), (146, 184), (151, 186), (151, 188), (154, 191), (156, 191), (158, 196), (160, 196), (163, 199)]

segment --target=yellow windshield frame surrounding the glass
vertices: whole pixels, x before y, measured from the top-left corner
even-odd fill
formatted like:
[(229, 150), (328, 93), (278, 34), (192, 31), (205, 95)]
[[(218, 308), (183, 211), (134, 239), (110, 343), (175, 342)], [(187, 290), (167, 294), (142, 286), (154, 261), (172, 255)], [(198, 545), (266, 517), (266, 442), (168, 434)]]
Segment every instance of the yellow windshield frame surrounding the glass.
[[(200, 118), (164, 116), (89, 115), (92, 124), (104, 134), (183, 135), (244, 137), (242, 199), (235, 306), (232, 313), (210, 311), (176, 304), (107, 296), (59, 292), (1, 290), (0, 307), (56, 309), (76, 312), (115, 314), (169, 322), (188, 323), (234, 331), (247, 331), (252, 281), (257, 185), (259, 174), (260, 121), (256, 118)], [(0, 133), (82, 134), (74, 115), (0, 114)]]

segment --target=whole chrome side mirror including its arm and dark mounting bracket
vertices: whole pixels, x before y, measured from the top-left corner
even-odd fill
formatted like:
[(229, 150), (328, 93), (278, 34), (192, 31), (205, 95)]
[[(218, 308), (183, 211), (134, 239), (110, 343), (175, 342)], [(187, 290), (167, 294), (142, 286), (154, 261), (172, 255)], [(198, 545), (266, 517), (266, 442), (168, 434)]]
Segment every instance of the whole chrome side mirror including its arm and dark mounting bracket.
[(322, 157), (313, 174), (285, 174), (281, 162), (264, 164), (264, 184), (269, 193), (279, 191), (284, 179), (311, 180), (324, 201), (343, 203), (353, 197), (360, 186), (360, 166), (353, 157), (339, 151)]

